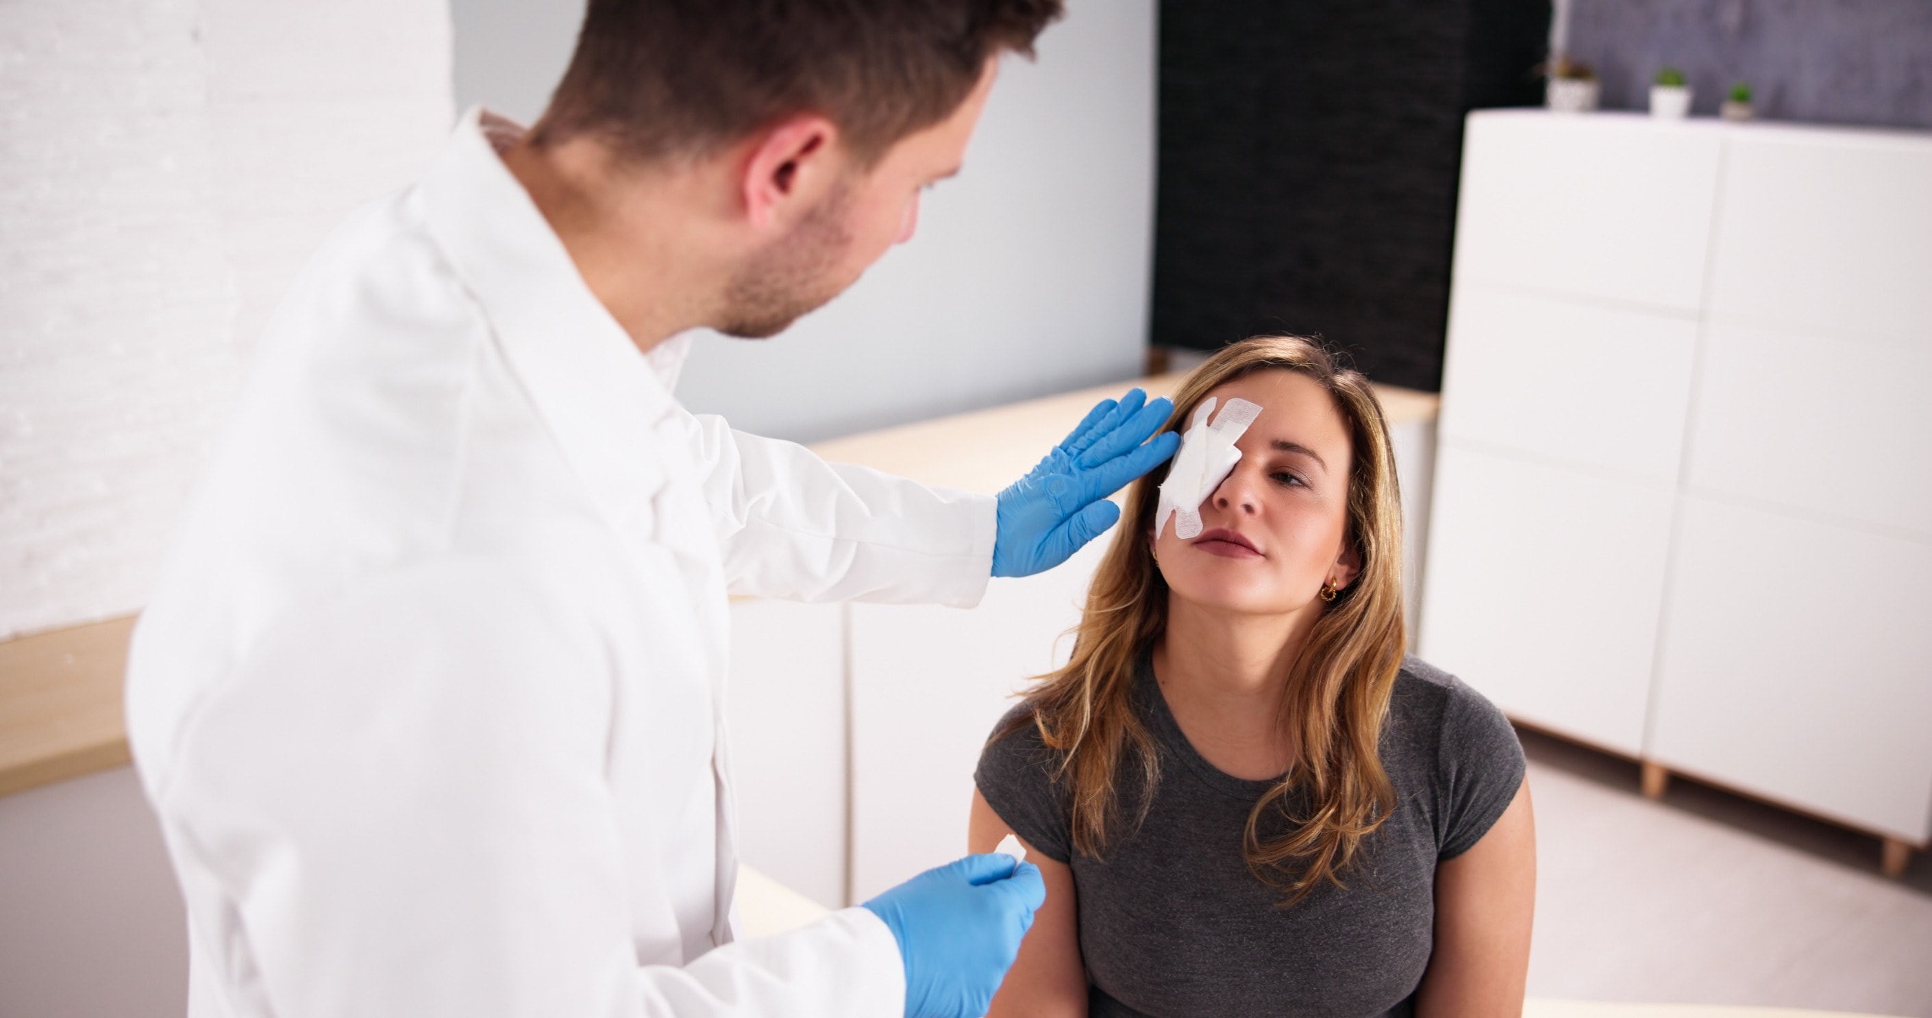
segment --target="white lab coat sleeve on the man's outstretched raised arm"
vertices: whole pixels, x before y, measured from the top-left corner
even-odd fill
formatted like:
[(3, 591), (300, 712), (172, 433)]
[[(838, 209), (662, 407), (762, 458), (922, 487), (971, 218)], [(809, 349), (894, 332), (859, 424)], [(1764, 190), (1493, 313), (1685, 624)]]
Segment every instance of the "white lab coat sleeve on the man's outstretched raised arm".
[(972, 607), (993, 576), (993, 496), (827, 464), (678, 411), (734, 595)]

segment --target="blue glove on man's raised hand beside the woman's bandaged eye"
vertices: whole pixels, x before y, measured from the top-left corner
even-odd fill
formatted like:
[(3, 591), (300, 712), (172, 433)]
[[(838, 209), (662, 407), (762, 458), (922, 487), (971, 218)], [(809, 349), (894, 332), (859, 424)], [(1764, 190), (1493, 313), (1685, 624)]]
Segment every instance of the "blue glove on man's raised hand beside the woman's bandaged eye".
[(1122, 485), (1167, 462), (1180, 446), (1173, 431), (1148, 440), (1175, 411), (1134, 388), (1101, 400), (1065, 442), (1026, 477), (999, 493), (993, 576), (1034, 576), (1065, 562), (1119, 518), (1107, 500)]

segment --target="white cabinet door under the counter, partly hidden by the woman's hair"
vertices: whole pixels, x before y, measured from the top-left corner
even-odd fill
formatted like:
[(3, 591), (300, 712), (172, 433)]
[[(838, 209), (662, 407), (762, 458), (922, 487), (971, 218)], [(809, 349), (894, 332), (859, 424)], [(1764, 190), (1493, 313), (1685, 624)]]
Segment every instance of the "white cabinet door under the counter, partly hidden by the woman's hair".
[(1032, 676), (1066, 661), (1088, 580), (1111, 541), (978, 608), (852, 605), (852, 894), (866, 900), (966, 854), (972, 773)]

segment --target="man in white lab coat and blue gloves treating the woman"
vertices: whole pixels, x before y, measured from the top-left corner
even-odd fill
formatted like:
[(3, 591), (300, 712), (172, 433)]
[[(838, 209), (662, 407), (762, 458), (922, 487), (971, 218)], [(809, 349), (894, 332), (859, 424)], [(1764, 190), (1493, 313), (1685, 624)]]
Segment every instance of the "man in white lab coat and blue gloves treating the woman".
[(974, 605), (1113, 525), (1167, 402), (987, 498), (672, 386), (686, 330), (775, 334), (910, 238), (1057, 14), (591, 0), (531, 131), (468, 114), (328, 240), (129, 668), (193, 1016), (985, 1010), (1041, 900), (1005, 856), (734, 941), (726, 595)]

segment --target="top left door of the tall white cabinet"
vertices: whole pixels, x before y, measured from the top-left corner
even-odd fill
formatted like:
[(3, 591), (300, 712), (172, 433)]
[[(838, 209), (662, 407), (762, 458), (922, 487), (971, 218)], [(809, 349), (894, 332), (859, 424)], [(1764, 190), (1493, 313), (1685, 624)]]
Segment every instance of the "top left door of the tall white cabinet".
[(1721, 139), (1636, 116), (1470, 114), (1457, 282), (1696, 311)]

